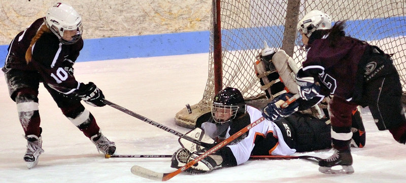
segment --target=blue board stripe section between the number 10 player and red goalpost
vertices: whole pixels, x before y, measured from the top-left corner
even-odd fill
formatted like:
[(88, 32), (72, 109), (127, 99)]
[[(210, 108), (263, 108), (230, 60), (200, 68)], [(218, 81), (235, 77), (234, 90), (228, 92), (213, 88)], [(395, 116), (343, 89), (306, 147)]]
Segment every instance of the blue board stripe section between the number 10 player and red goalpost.
[(87, 39), (77, 61), (209, 52), (209, 31)]

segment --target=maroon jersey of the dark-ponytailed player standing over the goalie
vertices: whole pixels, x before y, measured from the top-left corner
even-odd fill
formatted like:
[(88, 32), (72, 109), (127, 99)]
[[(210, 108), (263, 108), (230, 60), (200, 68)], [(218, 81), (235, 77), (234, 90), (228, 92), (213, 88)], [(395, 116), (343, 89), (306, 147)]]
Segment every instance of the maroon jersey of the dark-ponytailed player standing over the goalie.
[[(351, 37), (340, 37), (335, 47), (328, 40), (314, 40), (303, 62), (303, 71), (323, 85), (322, 94), (350, 99), (353, 96), (358, 63), (366, 44)], [(327, 90), (327, 91), (325, 91)]]

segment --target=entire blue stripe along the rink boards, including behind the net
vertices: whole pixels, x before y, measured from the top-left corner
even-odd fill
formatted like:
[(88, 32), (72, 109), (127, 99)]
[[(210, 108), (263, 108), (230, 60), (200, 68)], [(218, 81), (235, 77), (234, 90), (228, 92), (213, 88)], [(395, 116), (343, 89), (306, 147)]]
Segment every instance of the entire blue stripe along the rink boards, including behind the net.
[[(358, 28), (354, 27), (355, 24), (358, 25)], [(359, 26), (359, 24), (361, 24), (361, 26)], [(394, 37), (406, 36), (405, 25), (406, 17), (404, 16), (349, 20), (347, 21), (346, 30), (351, 32), (351, 36), (354, 38), (370, 41), (384, 39), (384, 35), (387, 34), (392, 34)], [(234, 35), (236, 29), (231, 29), (228, 31), (222, 30), (223, 33), (229, 35), (228, 37), (225, 36), (222, 38), (222, 42), (224, 43), (227, 40), (231, 41), (234, 45), (238, 45), (238, 47), (233, 48), (236, 50), (244, 50), (248, 48), (260, 49), (262, 45), (250, 45), (251, 42), (247, 42), (247, 40), (256, 39), (255, 36), (250, 34), (250, 32), (255, 31), (256, 29), (266, 29), (269, 32), (272, 32), (271, 35), (256, 36), (261, 36), (262, 39), (266, 39), (268, 45), (270, 47), (274, 47), (276, 45), (274, 45), (270, 40), (272, 38), (282, 38), (284, 27), (282, 25), (252, 27), (245, 30), (245, 36), (239, 38)], [(280, 42), (281, 40), (274, 40), (274, 42), (275, 41)], [(241, 44), (241, 42), (245, 44)], [(209, 52), (209, 45), (209, 31), (86, 39), (84, 40), (84, 48), (81, 51), (77, 62), (207, 53)], [(8, 45), (0, 45), (0, 67), (4, 66), (4, 61), (7, 56), (7, 47)], [(231, 50), (231, 48), (227, 48), (227, 46), (225, 46), (223, 49)]]

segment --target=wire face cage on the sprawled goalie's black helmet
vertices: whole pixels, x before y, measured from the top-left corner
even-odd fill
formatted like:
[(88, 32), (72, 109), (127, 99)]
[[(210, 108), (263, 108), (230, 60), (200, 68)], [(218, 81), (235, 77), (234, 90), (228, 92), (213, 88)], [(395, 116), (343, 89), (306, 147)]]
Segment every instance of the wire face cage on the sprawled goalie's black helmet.
[(235, 118), (237, 115), (238, 105), (223, 105), (213, 103), (212, 105), (212, 116), (216, 123), (223, 124), (229, 122)]

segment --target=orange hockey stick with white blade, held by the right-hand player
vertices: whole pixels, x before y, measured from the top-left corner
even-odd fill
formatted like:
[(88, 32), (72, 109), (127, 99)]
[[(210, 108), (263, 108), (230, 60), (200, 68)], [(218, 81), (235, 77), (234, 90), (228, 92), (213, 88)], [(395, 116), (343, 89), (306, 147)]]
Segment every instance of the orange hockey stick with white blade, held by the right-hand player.
[[(298, 98), (297, 95), (299, 95), (299, 94), (295, 94), (295, 96), (291, 97), (291, 98), (294, 98), (292, 100), (288, 99), (288, 101), (286, 101), (286, 102), (284, 102), (283, 100), (279, 100), (279, 101), (276, 102), (276, 104), (279, 104), (282, 108), (286, 108), (288, 106), (288, 104), (285, 104), (285, 103), (288, 103), (288, 102), (292, 103), (293, 101), (296, 100), (296, 98)], [(190, 168), (191, 166), (193, 166), (194, 164), (196, 164), (200, 160), (202, 160), (202, 159), (208, 157), (209, 155), (213, 154), (214, 152), (216, 152), (220, 148), (224, 147), (225, 145), (227, 145), (228, 143), (230, 143), (234, 139), (236, 139), (239, 136), (245, 134), (252, 127), (258, 125), (259, 123), (263, 122), (264, 120), (265, 120), (265, 118), (263, 118), (263, 117), (259, 118), (257, 121), (247, 125), (246, 127), (242, 128), (240, 131), (232, 134), (230, 137), (228, 137), (228, 138), (224, 139), (223, 141), (217, 143), (213, 148), (211, 148), (210, 150), (204, 152), (203, 154), (201, 154), (197, 158), (193, 159), (192, 161), (189, 161), (188, 163), (186, 163), (186, 165), (178, 168), (174, 172), (159, 173), (159, 172), (155, 172), (155, 171), (143, 168), (141, 166), (134, 165), (134, 166), (131, 167), (131, 173), (134, 174), (134, 175), (138, 175), (138, 176), (141, 176), (141, 177), (144, 177), (144, 178), (151, 179), (151, 180), (161, 180), (161, 181), (169, 180), (172, 177), (174, 177), (174, 176), (178, 175), (179, 173), (185, 171), (186, 169)]]

